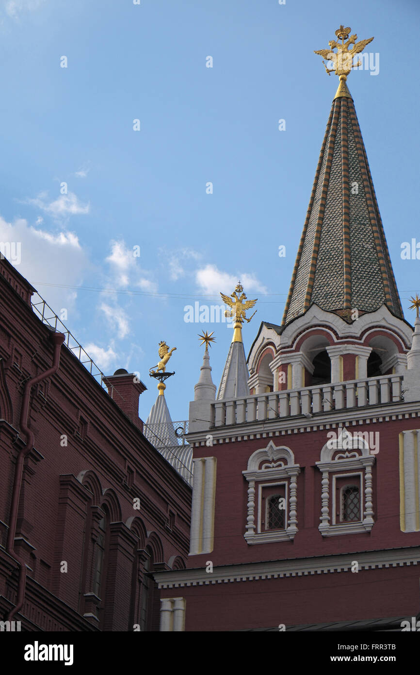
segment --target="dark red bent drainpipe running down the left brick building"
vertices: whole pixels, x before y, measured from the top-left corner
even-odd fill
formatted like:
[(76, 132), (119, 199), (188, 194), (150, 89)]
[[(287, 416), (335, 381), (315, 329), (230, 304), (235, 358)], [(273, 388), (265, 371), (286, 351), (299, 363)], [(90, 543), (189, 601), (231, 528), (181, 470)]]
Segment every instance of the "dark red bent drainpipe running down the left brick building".
[(25, 589), (26, 589), (26, 563), (20, 556), (18, 556), (14, 550), (15, 548), (15, 537), (16, 537), (16, 524), (18, 522), (18, 508), (19, 508), (19, 498), (20, 498), (20, 489), (22, 487), (22, 476), (24, 472), (24, 460), (26, 456), (31, 452), (34, 447), (34, 433), (28, 427), (28, 412), (29, 412), (29, 400), (30, 400), (30, 390), (38, 382), (47, 379), (58, 370), (60, 363), (60, 350), (61, 345), (65, 340), (65, 335), (63, 333), (51, 333), (51, 340), (54, 344), (54, 357), (53, 365), (44, 373), (40, 373), (36, 377), (33, 377), (31, 380), (28, 380), (24, 389), (24, 396), (22, 400), (22, 409), (20, 411), (20, 429), (26, 435), (26, 443), (24, 448), (20, 450), (18, 458), (16, 460), (15, 466), (15, 477), (13, 479), (13, 489), (11, 493), (11, 509), (10, 509), (10, 518), (9, 518), (9, 531), (7, 533), (7, 543), (6, 551), (9, 555), (18, 562), (20, 565), (19, 570), (19, 580), (18, 580), (18, 599), (16, 601), (15, 607), (10, 610), (7, 620), (11, 621), (15, 614), (18, 614), (22, 609), (25, 599)]

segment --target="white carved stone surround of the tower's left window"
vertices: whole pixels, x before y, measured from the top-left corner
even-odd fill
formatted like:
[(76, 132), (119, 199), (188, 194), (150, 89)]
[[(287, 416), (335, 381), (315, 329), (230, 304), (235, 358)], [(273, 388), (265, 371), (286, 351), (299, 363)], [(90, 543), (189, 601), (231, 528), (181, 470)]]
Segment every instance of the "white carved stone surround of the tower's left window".
[[(299, 464), (295, 464), (295, 456), (290, 448), (281, 445), (276, 448), (273, 441), (266, 448), (256, 450), (248, 460), (247, 470), (243, 476), (248, 482), (247, 522), (245, 540), (248, 544), (268, 543), (271, 541), (290, 541), (297, 533), (297, 476)], [(261, 509), (260, 485), (286, 483), (287, 509), (284, 530), (259, 531), (259, 513)]]

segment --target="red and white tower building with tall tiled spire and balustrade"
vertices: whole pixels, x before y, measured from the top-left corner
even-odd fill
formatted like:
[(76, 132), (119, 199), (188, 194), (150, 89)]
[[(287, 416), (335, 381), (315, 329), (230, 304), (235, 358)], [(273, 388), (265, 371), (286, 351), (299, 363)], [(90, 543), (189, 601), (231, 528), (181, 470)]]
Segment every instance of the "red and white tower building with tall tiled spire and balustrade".
[(420, 610), (420, 319), (345, 80), (281, 325), (245, 362), (237, 319), (216, 398), (205, 355), (187, 569), (154, 575), (164, 630), (401, 630)]

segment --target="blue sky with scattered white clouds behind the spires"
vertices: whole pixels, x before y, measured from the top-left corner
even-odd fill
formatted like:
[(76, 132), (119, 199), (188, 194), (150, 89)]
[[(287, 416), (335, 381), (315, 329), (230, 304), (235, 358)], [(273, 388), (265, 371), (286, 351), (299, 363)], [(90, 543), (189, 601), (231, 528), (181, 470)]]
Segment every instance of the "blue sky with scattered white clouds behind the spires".
[(202, 329), (220, 380), (232, 331), (186, 323), (185, 306), (220, 304), (241, 278), (259, 299), (245, 351), (260, 321), (281, 322), (338, 85), (313, 50), (341, 23), (375, 36), (378, 74), (348, 84), (412, 323), (420, 261), (400, 252), (420, 242), (419, 18), (417, 0), (0, 2), (0, 240), (22, 242), (18, 270), (106, 375), (140, 372), (142, 418), (160, 340), (177, 346), (174, 420), (188, 416)]

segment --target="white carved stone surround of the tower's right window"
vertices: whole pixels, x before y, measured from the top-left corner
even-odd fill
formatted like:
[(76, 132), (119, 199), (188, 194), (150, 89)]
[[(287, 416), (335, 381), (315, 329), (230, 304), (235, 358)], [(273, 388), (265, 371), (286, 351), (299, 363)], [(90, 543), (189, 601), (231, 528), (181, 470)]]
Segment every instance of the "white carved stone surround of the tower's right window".
[[(370, 532), (373, 520), (372, 466), (375, 456), (370, 453), (365, 436), (349, 433), (346, 427), (338, 437), (328, 439), (321, 450), (320, 462), (316, 462), (322, 473), (322, 507), (319, 530), (323, 537)], [(331, 521), (332, 485), (334, 475), (361, 475), (361, 520), (333, 524)]]

